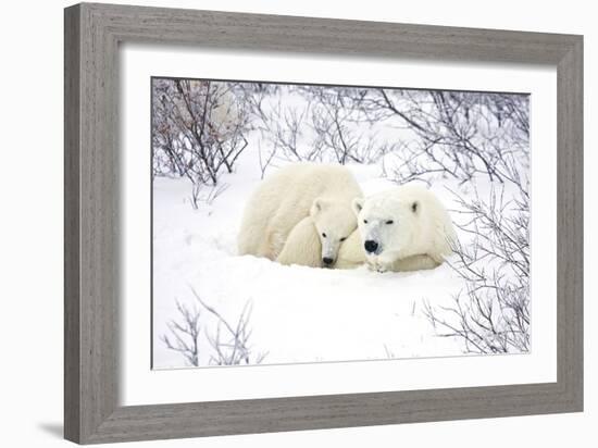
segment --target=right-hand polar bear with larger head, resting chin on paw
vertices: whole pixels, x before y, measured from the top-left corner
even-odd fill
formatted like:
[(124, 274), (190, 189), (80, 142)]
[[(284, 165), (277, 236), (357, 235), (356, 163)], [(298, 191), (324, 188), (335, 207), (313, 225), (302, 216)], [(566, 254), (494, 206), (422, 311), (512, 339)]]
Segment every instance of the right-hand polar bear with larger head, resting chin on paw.
[(361, 253), (371, 269), (434, 269), (452, 252), (457, 234), (450, 216), (427, 188), (404, 185), (352, 202), (359, 236), (341, 248), (339, 264), (354, 264)]

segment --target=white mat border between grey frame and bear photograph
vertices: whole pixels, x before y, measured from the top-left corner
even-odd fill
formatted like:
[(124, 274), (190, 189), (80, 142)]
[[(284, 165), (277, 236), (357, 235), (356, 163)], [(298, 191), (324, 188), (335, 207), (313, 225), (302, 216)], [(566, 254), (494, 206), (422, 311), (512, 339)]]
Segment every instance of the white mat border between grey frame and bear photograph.
[[(557, 381), (557, 76), (543, 66), (121, 48), (121, 405)], [(530, 92), (532, 340), (528, 354), (150, 369), (150, 77)]]

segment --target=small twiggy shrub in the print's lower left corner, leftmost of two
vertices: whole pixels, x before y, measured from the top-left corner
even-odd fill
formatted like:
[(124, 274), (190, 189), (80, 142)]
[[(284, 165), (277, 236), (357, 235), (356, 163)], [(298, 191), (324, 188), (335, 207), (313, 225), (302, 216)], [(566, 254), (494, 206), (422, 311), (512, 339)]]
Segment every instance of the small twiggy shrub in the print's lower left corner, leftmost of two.
[(176, 301), (180, 321), (172, 320), (169, 325), (171, 336), (162, 335), (161, 339), (171, 350), (179, 352), (189, 365), (199, 365), (199, 324), (200, 312), (189, 309)]

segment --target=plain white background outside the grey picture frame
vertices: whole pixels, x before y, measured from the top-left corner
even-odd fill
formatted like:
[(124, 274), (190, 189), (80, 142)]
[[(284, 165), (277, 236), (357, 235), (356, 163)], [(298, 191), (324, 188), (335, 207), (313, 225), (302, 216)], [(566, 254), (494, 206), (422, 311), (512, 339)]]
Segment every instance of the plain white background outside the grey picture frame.
[[(117, 2), (117, 1), (115, 1)], [(596, 284), (590, 234), (598, 224), (593, 201), (598, 162), (596, 123), (588, 103), (597, 103), (598, 30), (591, 2), (570, 0), (478, 1), (383, 0), (272, 2), (267, 0), (141, 1), (138, 4), (217, 9), (275, 14), (378, 20), (436, 25), (490, 27), (585, 34), (586, 212), (585, 212), (585, 344), (586, 411), (482, 421), (423, 423), (367, 428), (172, 440), (127, 446), (164, 447), (303, 447), (375, 444), (404, 446), (593, 446), (597, 395)], [(2, 445), (65, 446), (62, 432), (62, 8), (64, 1), (11, 2), (2, 7), (2, 170), (0, 191), (0, 266), (4, 303), (2, 336)], [(594, 83), (594, 84), (593, 84)], [(594, 100), (594, 101), (591, 101)], [(23, 152), (25, 157), (23, 157)], [(8, 307), (8, 308), (7, 308)]]

